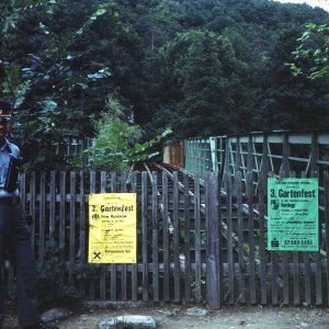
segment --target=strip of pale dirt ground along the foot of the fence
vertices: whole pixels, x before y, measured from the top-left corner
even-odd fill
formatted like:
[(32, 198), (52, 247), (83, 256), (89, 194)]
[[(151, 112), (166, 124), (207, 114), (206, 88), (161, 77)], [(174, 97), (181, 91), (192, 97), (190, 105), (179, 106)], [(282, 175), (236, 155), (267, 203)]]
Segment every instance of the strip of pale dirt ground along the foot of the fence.
[[(151, 316), (157, 328), (161, 329), (328, 329), (329, 308), (303, 307), (262, 307), (235, 306), (223, 307), (220, 310), (206, 310), (206, 315), (188, 315), (188, 308), (180, 305), (159, 305), (126, 307), (121, 309), (83, 307), (72, 310), (72, 314), (58, 320), (60, 329), (97, 329), (102, 320), (122, 315)], [(3, 329), (18, 329), (15, 310), (10, 309)]]

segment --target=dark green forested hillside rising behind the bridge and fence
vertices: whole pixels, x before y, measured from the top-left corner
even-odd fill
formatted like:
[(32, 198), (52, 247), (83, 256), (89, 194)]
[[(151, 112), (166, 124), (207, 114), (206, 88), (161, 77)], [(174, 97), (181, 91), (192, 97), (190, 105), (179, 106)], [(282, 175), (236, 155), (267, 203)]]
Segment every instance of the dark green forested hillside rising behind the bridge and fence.
[(92, 136), (109, 98), (145, 138), (329, 127), (328, 79), (285, 65), (329, 14), (266, 0), (4, 0), (1, 97), (21, 139)]

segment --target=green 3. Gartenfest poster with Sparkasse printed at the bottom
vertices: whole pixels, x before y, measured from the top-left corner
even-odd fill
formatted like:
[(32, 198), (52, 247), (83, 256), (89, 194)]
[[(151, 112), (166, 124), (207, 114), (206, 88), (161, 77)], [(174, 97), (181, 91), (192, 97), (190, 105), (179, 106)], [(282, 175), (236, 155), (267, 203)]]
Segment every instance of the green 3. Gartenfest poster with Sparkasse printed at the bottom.
[(318, 179), (269, 178), (268, 249), (317, 251)]

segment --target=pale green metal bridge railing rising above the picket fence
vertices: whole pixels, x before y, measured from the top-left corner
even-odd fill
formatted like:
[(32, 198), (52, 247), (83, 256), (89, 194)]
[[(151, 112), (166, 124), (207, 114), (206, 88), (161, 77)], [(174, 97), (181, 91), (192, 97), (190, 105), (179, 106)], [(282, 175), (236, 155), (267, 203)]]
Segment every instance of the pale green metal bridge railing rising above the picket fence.
[[(178, 144), (180, 145), (178, 155)], [(175, 156), (173, 157), (173, 150)], [(190, 173), (197, 172), (204, 178), (206, 172), (242, 173), (246, 182), (248, 171), (254, 173), (272, 171), (303, 172), (310, 177), (318, 172), (321, 178), (329, 167), (329, 131), (321, 132), (271, 132), (248, 135), (214, 136), (191, 138), (164, 147), (163, 162), (181, 167)], [(257, 181), (254, 181), (257, 184)]]

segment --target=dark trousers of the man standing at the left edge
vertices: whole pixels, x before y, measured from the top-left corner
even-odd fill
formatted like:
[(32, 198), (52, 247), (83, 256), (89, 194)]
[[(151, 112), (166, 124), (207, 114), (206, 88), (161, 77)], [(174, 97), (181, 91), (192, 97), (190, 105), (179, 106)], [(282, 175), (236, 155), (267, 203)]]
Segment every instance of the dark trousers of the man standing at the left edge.
[(2, 264), (5, 250), (9, 251), (16, 270), (20, 326), (34, 325), (38, 314), (31, 228), (20, 204), (1, 204), (0, 200), (0, 324), (4, 310)]

